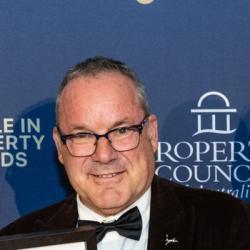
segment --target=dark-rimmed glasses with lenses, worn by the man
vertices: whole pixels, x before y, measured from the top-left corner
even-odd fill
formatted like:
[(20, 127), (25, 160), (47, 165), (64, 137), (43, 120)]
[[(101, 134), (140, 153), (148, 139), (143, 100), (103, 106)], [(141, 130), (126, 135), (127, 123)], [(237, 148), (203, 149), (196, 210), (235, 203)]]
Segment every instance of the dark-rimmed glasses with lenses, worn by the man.
[(122, 152), (132, 150), (139, 145), (140, 135), (148, 118), (149, 115), (146, 115), (139, 124), (111, 129), (102, 135), (89, 132), (64, 135), (58, 126), (57, 130), (62, 143), (67, 146), (73, 156), (82, 157), (94, 154), (101, 137), (106, 138), (113, 149)]

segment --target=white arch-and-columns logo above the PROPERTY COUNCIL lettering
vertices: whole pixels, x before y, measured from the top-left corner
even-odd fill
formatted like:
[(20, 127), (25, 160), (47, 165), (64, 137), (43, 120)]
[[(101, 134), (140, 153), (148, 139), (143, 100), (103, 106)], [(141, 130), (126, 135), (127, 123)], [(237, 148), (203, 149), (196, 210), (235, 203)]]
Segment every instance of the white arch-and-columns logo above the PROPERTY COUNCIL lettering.
[[(220, 99), (223, 100), (225, 103), (225, 108), (202, 108), (202, 104), (205, 99), (208, 99), (211, 96), (217, 96)], [(197, 132), (193, 134), (193, 136), (202, 134), (202, 133), (215, 133), (215, 134), (231, 134), (233, 133), (236, 129), (231, 129), (231, 120), (230, 120), (230, 114), (237, 112), (237, 109), (232, 109), (230, 108), (230, 103), (228, 98), (223, 95), (220, 92), (216, 91), (211, 91), (203, 94), (198, 103), (197, 103), (197, 109), (191, 109), (191, 113), (197, 114)], [(225, 126), (224, 129), (218, 129), (216, 126), (216, 117), (219, 114), (224, 114), (225, 116)], [(203, 127), (202, 124), (202, 118), (203, 116), (209, 115), (209, 118), (211, 120), (210, 127)]]

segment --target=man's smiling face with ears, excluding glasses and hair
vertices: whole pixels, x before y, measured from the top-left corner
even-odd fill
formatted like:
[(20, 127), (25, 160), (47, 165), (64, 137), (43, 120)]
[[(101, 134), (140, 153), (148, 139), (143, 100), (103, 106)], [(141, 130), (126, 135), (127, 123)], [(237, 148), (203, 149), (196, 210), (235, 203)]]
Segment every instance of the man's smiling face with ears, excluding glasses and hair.
[[(138, 124), (144, 116), (131, 80), (108, 72), (76, 78), (65, 87), (58, 123), (63, 134), (104, 134), (110, 129)], [(61, 142), (56, 129), (53, 137), (73, 188), (87, 207), (101, 215), (125, 209), (151, 184), (157, 149), (154, 115), (143, 128), (139, 145), (129, 151), (117, 152), (101, 137), (94, 154), (75, 157)]]

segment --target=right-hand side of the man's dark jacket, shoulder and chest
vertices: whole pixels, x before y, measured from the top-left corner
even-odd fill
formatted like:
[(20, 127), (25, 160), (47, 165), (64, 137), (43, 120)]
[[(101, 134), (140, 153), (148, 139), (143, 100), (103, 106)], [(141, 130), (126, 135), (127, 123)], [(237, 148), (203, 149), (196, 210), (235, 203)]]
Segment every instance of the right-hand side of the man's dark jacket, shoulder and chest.
[(159, 246), (159, 240), (155, 239), (164, 240), (168, 234), (187, 244), (187, 249), (202, 249), (202, 246), (250, 249), (250, 206), (245, 202), (224, 193), (185, 187), (157, 176), (151, 190), (150, 244), (154, 249)]

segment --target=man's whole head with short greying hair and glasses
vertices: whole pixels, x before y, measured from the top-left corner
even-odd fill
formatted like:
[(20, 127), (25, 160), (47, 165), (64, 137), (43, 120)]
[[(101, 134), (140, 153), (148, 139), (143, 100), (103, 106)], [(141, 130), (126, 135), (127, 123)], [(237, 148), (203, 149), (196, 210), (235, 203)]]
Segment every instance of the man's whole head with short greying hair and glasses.
[(99, 214), (120, 212), (151, 184), (157, 120), (136, 74), (119, 61), (88, 59), (67, 73), (53, 137), (73, 188)]

